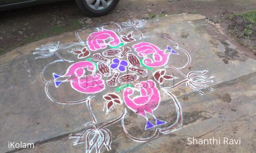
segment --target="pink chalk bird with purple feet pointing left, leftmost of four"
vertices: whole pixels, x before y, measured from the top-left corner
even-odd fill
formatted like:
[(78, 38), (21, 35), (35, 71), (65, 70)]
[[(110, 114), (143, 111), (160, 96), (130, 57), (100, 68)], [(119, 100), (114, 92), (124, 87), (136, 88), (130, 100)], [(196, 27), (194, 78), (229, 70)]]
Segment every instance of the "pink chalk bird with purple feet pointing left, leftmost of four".
[[(70, 81), (74, 90), (85, 94), (93, 94), (104, 90), (105, 84), (100, 74), (94, 74), (95, 65), (91, 62), (80, 61), (69, 66), (66, 74), (60, 76), (53, 73), (56, 88), (63, 82)], [(87, 74), (87, 69), (92, 74)]]

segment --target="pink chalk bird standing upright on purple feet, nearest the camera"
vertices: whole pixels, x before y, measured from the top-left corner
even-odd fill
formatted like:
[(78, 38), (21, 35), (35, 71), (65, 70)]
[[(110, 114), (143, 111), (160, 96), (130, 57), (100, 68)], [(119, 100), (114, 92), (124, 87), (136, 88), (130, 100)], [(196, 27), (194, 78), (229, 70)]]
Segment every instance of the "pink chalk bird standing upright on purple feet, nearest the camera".
[[(153, 111), (158, 108), (161, 99), (160, 92), (156, 88), (156, 83), (152, 80), (147, 80), (137, 83), (135, 87), (136, 88), (128, 87), (124, 90), (124, 103), (133, 112), (140, 114), (147, 120), (145, 129), (151, 129), (154, 126), (166, 124), (165, 121), (157, 119), (153, 114)], [(131, 98), (134, 90), (138, 90), (140, 95)], [(148, 120), (147, 113), (154, 117), (156, 121), (155, 125)]]

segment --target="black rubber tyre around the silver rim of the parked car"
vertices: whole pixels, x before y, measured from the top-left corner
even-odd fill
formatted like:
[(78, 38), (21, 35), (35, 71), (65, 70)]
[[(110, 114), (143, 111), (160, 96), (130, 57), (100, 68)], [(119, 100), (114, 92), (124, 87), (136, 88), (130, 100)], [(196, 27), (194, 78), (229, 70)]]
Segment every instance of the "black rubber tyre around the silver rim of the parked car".
[(87, 4), (86, 0), (76, 0), (76, 3), (80, 7), (80, 9), (82, 9), (82, 11), (84, 13), (86, 13), (87, 15), (92, 16), (92, 17), (99, 17), (102, 15), (107, 15), (108, 13), (113, 11), (113, 9), (115, 9), (118, 2), (119, 2), (119, 0), (112, 0), (111, 4), (109, 4), (108, 7), (101, 9), (101, 10), (96, 10), (96, 9), (91, 8)]

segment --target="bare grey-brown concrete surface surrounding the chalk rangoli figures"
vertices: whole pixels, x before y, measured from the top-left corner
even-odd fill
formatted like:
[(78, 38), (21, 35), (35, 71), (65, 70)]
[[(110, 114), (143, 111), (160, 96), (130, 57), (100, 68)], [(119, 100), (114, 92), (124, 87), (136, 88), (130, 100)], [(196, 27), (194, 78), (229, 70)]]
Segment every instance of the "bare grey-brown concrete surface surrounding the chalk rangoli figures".
[[(123, 27), (121, 26), (121, 28)], [(115, 33), (118, 33), (119, 29), (116, 24), (109, 24), (104, 28), (113, 30)], [(143, 33), (143, 37), (135, 28), (124, 29), (120, 34), (117, 34), (118, 36), (125, 35), (133, 31), (134, 35), (132, 37), (137, 41), (126, 42), (124, 47), (133, 48), (132, 45), (139, 42), (150, 42), (161, 50), (165, 50), (166, 46), (169, 45), (178, 53), (170, 54), (166, 65), (180, 68), (179, 70), (166, 68), (164, 65), (153, 67), (152, 70), (141, 66), (141, 69), (147, 70), (148, 76), (141, 77), (137, 75), (139, 79), (132, 83), (135, 85), (135, 83), (146, 79), (154, 80), (161, 95), (161, 102), (158, 108), (154, 110), (154, 115), (160, 120), (166, 121), (166, 124), (145, 130), (145, 118), (133, 112), (125, 103), (123, 91), (126, 91), (127, 88), (122, 89), (121, 92), (115, 92), (115, 87), (111, 88), (106, 85), (106, 89), (102, 92), (85, 94), (74, 90), (74, 87), (71, 87), (70, 83), (67, 82), (62, 83), (58, 88), (55, 87), (52, 77), (53, 72), (64, 75), (71, 64), (85, 61), (84, 59), (78, 59), (77, 54), (67, 51), (74, 51), (72, 48), (75, 48), (75, 50), (82, 49), (83, 46), (80, 44), (71, 47), (70, 45), (86, 42), (87, 37), (92, 32), (97, 32), (96, 29), (88, 27), (77, 32), (80, 39), (77, 39), (74, 32), (63, 33), (56, 37), (50, 37), (17, 48), (0, 58), (0, 152), (85, 152), (86, 144), (73, 146), (76, 138), (70, 138), (70, 135), (81, 133), (87, 129), (83, 125), (86, 122), (93, 121), (86, 105), (87, 101), (73, 105), (63, 103), (64, 101), (79, 101), (92, 95), (95, 97), (91, 98), (91, 105), (89, 106), (97, 119), (98, 125), (118, 119), (117, 122), (105, 127), (111, 133), (109, 135), (112, 139), (111, 149), (107, 151), (107, 145), (103, 145), (100, 147), (100, 151), (143, 153), (255, 152), (255, 59), (247, 55), (241, 46), (234, 44), (221, 27), (211, 24), (202, 15), (183, 13), (155, 18), (148, 20), (145, 26), (139, 27), (139, 30)], [(160, 38), (154, 35), (164, 37)], [(57, 41), (60, 41), (59, 48), (69, 46), (59, 49), (59, 55), (74, 62), (52, 63), (59, 60), (55, 54), (46, 58), (35, 59), (39, 56), (33, 55), (35, 48), (44, 44), (53, 44)], [(107, 46), (107, 49), (109, 49), (109, 46)], [(93, 58), (94, 62), (98, 62), (94, 60), (93, 55), (95, 53), (102, 54), (104, 50), (106, 49), (90, 51), (91, 54), (85, 59), (90, 57)], [(189, 53), (191, 58), (184, 50)], [(166, 52), (169, 51), (166, 50)], [(130, 53), (139, 57), (134, 49)], [(105, 58), (113, 59), (113, 57)], [(126, 57), (123, 59), (126, 60)], [(191, 59), (191, 62), (188, 59)], [(47, 67), (45, 68), (45, 66)], [(161, 90), (159, 82), (152, 76), (154, 75), (153, 72), (160, 69), (165, 69), (169, 76), (177, 77), (174, 80), (166, 79), (165, 87), (171, 87), (182, 81), (184, 79), (182, 74), (186, 76), (191, 71), (209, 70), (205, 75), (214, 76), (207, 78), (208, 81), (213, 81), (207, 83), (212, 90), (198, 87), (204, 92), (204, 94), (200, 94), (195, 89), (192, 90), (182, 84), (168, 90), (173, 95), (172, 97)], [(99, 72), (96, 71), (96, 73)], [(110, 77), (102, 78), (107, 82)], [(106, 101), (102, 96), (109, 92), (118, 94), (124, 102), (121, 105), (115, 105), (113, 110), (106, 114), (106, 108), (102, 111)], [(155, 94), (157, 95), (156, 92)], [(49, 95), (55, 100), (50, 98)], [(139, 94), (137, 95), (139, 96)], [(180, 111), (177, 111), (179, 105)], [(127, 110), (127, 112), (124, 116), (121, 116), (125, 112), (124, 110)], [(119, 116), (122, 118), (119, 118)], [(176, 124), (177, 116), (180, 120)], [(154, 122), (152, 117), (149, 120), (152, 123)], [(171, 125), (175, 126), (169, 128), (168, 131), (164, 130)], [(124, 127), (129, 133), (128, 136), (125, 134)], [(156, 136), (154, 136), (155, 131)], [(153, 138), (150, 138), (151, 136)], [(220, 138), (221, 144), (188, 144), (187, 139), (192, 137), (198, 140), (213, 137)], [(241, 144), (223, 144), (224, 137), (229, 140), (240, 139)], [(89, 139), (94, 140), (93, 136), (90, 135)], [(35, 148), (8, 148), (8, 142), (35, 143)], [(98, 139), (96, 142), (102, 141)], [(95, 146), (92, 148), (91, 151), (95, 152)]]

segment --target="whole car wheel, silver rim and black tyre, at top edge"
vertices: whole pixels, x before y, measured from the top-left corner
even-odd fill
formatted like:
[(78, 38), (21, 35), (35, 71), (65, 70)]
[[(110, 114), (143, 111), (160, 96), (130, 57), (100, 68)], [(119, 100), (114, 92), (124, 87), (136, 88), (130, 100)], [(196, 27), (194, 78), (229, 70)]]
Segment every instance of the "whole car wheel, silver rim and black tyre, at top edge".
[(89, 16), (102, 16), (110, 13), (119, 0), (76, 0), (78, 6)]

